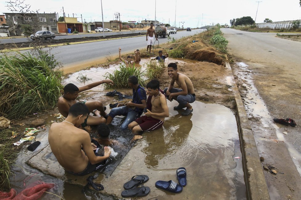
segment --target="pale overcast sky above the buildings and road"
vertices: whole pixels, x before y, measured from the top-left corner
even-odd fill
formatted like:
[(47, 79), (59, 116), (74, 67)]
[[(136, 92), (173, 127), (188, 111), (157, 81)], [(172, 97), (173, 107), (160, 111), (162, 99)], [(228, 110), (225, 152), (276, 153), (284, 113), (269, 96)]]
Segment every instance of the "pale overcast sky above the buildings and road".
[[(8, 0), (0, 2), (0, 13), (11, 12), (7, 7)], [(15, 0), (11, 0), (15, 1)], [(260, 1), (260, 2), (259, 2)], [(152, 3), (150, 3), (152, 2)], [(259, 3), (258, 3), (259, 2)], [(299, 0), (24, 0), (31, 5), (30, 10), (39, 13), (58, 13), (63, 16), (63, 9), (70, 17), (78, 17), (78, 21), (110, 21), (114, 13), (120, 13), (121, 21), (158, 20), (177, 27), (201, 27), (202, 25), (230, 24), (230, 19), (250, 16), (256, 23), (262, 23), (265, 18), (272, 21), (301, 19)], [(257, 16), (256, 11), (258, 8)], [(82, 19), (81, 19), (82, 15)]]

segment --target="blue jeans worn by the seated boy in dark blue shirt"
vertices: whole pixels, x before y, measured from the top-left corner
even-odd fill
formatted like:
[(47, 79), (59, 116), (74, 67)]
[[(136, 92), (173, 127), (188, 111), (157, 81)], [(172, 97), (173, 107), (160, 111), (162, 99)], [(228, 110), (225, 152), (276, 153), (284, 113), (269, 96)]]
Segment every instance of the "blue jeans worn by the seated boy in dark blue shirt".
[(126, 130), (127, 126), (134, 121), (135, 119), (137, 119), (138, 117), (140, 117), (140, 115), (135, 112), (133, 109), (128, 108), (126, 106), (121, 106), (118, 108), (113, 108), (110, 113), (109, 116), (111, 116), (112, 118), (114, 118), (116, 115), (122, 115), (122, 116), (126, 116), (125, 120), (123, 121), (122, 125), (121, 125), (121, 129), (122, 130)]

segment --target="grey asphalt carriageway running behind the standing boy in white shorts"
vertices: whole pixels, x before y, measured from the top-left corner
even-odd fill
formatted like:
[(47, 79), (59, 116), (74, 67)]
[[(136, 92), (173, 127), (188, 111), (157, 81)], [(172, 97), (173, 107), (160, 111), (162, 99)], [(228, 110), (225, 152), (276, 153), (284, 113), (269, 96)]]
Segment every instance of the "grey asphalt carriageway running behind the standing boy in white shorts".
[[(171, 38), (179, 39), (189, 35), (200, 33), (204, 29), (194, 29), (192, 31), (179, 31), (176, 34), (171, 34)], [(166, 43), (168, 38), (158, 38), (159, 44)], [(155, 46), (158, 46), (158, 41), (155, 42)], [(106, 56), (117, 56), (118, 48), (122, 49), (121, 53), (134, 53), (134, 50), (146, 48), (146, 34), (143, 37), (132, 37), (116, 40), (107, 40), (99, 42), (90, 42), (83, 44), (74, 44), (56, 47), (51, 50), (52, 54), (62, 65), (78, 65), (90, 63), (94, 60), (104, 59)], [(155, 52), (154, 52), (155, 53)]]

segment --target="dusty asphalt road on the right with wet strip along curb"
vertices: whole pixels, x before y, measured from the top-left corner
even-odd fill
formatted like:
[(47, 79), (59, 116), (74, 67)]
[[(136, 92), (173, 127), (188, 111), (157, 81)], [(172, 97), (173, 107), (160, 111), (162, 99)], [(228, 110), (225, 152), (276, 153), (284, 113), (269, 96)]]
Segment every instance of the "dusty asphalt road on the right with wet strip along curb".
[[(276, 37), (276, 33), (251, 33), (222, 29), (229, 41), (244, 106), (262, 164), (280, 172), (264, 173), (271, 199), (301, 197), (301, 43)], [(297, 126), (275, 123), (292, 118)]]

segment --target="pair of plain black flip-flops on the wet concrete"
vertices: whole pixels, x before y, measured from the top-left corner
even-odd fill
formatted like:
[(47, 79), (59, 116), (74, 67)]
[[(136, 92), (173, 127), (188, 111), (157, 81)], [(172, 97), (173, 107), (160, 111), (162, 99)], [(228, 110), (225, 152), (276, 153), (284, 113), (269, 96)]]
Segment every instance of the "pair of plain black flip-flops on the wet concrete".
[(128, 197), (144, 197), (148, 193), (150, 193), (149, 187), (144, 187), (143, 183), (148, 181), (148, 176), (146, 175), (136, 175), (133, 176), (130, 181), (124, 183), (123, 187), (126, 190), (121, 192), (121, 196), (128, 198)]

